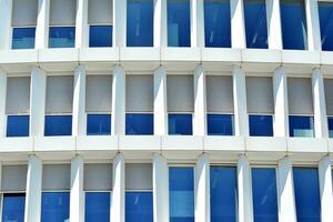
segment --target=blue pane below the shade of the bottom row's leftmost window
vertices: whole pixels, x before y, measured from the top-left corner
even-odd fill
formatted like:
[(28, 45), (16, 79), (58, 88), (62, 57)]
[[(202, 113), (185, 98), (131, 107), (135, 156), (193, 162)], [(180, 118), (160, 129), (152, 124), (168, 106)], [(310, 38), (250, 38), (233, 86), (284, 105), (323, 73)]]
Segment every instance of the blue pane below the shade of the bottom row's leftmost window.
[(24, 193), (4, 193), (2, 204), (2, 222), (24, 221)]

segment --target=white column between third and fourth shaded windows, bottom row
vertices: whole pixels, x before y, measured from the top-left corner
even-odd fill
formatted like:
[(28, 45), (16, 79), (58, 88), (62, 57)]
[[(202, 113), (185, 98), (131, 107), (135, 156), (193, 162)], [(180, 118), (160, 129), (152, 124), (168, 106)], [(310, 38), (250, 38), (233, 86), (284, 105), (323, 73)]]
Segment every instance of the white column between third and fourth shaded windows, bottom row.
[(125, 164), (122, 153), (113, 159), (111, 221), (124, 222)]

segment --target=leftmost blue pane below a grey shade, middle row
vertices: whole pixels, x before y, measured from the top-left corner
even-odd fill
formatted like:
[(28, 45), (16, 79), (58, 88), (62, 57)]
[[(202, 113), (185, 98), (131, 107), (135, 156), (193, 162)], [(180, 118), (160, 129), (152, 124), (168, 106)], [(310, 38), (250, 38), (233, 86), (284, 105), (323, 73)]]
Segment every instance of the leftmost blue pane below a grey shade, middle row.
[(7, 137), (29, 137), (29, 115), (8, 115)]

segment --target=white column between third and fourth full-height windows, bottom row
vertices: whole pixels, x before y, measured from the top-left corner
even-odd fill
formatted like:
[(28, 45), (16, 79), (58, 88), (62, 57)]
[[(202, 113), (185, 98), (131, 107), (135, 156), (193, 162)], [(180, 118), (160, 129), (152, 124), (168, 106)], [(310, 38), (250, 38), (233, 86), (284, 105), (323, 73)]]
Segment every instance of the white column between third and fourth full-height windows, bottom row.
[(296, 222), (292, 161), (284, 158), (278, 168), (278, 209), (279, 221)]

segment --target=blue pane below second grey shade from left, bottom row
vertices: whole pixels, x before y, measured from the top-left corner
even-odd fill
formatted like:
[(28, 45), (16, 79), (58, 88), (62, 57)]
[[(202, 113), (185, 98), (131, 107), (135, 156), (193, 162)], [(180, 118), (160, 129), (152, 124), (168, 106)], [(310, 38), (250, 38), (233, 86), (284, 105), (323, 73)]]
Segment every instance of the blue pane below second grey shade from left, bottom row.
[(43, 192), (41, 221), (69, 221), (69, 192)]

